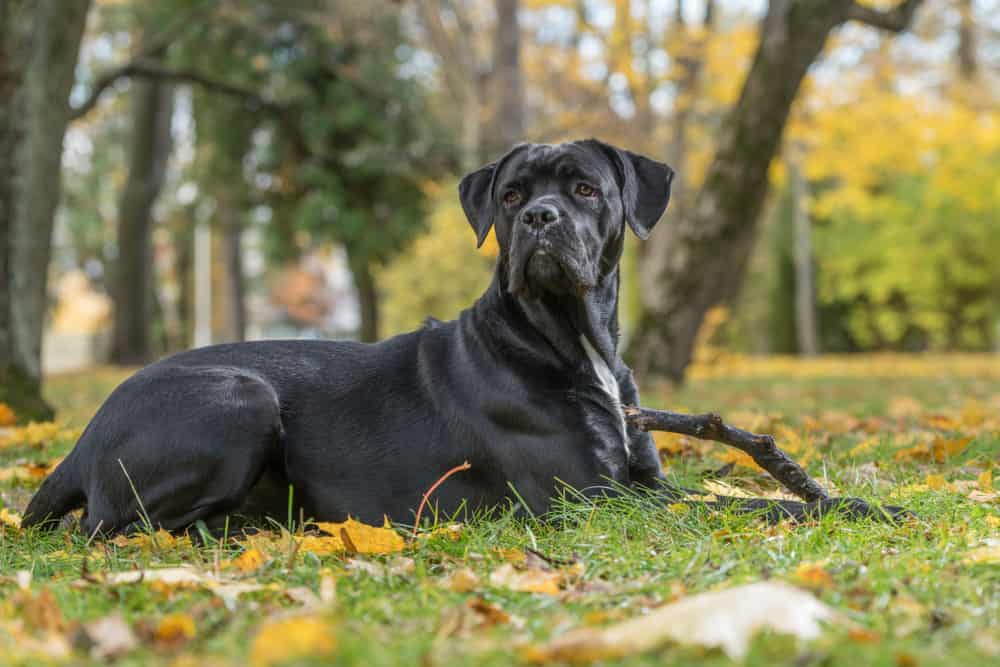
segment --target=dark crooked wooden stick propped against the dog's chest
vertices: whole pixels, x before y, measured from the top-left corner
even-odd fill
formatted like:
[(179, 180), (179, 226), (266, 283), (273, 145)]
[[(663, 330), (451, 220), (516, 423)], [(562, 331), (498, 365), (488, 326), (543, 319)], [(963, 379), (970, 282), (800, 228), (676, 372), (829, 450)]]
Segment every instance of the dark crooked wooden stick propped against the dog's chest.
[(770, 473), (771, 477), (806, 502), (811, 503), (829, 497), (826, 490), (811, 478), (802, 466), (778, 449), (774, 438), (770, 435), (758, 435), (734, 428), (712, 412), (686, 415), (635, 406), (625, 406), (624, 410), (629, 425), (641, 431), (681, 433), (702, 440), (715, 440), (746, 452), (757, 465)]

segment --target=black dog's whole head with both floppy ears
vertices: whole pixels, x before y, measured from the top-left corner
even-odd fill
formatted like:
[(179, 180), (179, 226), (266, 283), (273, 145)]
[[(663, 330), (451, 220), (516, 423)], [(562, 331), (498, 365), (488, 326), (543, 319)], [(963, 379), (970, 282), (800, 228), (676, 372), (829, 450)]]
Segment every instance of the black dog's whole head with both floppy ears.
[(521, 144), (462, 179), (482, 245), (496, 228), (512, 294), (584, 294), (614, 271), (625, 225), (649, 236), (670, 199), (665, 164), (589, 139)]

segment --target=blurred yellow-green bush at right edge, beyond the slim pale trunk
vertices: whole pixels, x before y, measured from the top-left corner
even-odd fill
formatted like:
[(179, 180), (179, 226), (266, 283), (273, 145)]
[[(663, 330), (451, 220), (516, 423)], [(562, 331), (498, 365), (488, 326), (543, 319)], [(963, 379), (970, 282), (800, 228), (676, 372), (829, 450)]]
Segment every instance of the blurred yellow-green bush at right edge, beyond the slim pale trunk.
[(905, 100), (868, 104), (876, 127), (841, 127), (829, 138), (836, 150), (850, 155), (876, 141), (873, 129), (902, 126), (893, 142), (912, 136), (910, 156), (859, 147), (854, 171), (818, 195), (821, 303), (841, 313), (862, 348), (989, 349), (1000, 315), (995, 118)]

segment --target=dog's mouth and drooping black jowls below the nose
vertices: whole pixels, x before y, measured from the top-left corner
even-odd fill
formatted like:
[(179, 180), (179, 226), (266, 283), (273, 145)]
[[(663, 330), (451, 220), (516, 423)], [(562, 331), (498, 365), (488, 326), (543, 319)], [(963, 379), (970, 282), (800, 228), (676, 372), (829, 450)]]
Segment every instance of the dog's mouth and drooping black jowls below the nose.
[(518, 296), (538, 297), (543, 293), (582, 296), (596, 280), (572, 255), (559, 252), (547, 239), (522, 244), (512, 253), (508, 290)]

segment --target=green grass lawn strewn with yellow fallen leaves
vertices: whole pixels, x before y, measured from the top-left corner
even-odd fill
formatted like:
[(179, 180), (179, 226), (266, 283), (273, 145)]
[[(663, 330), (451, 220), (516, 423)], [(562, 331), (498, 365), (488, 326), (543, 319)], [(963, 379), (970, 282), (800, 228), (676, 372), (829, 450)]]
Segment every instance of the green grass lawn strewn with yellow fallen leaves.
[[(0, 517), (16, 522), (47, 471), (32, 464), (64, 454), (122, 377), (109, 369), (53, 378), (49, 398), (61, 423), (0, 436)], [(648, 389), (644, 402), (716, 410), (775, 433), (824, 484), (905, 505), (917, 518), (765, 526), (631, 497), (568, 502), (548, 522), (504, 514), (432, 527), (425, 513), (425, 536), (415, 542), (409, 527), (396, 527), (405, 544), (396, 532), (353, 524), (303, 534), (295, 517), (285, 526), (293, 534), (271, 526), (249, 540), (207, 544), (162, 533), (107, 543), (8, 526), (0, 528), (0, 661), (548, 662), (547, 642), (575, 629), (614, 627), (706, 591), (780, 581), (817, 596), (838, 619), (808, 642), (759, 635), (746, 664), (997, 664), (1000, 357), (720, 359), (695, 369), (682, 391)], [(707, 485), (706, 494), (776, 491), (722, 446), (658, 443), (669, 474)], [(166, 580), (149, 571), (168, 566), (184, 569)], [(133, 570), (146, 572), (114, 578)], [(645, 639), (645, 651), (632, 638), (610, 652), (560, 655), (731, 664), (718, 649)]]

